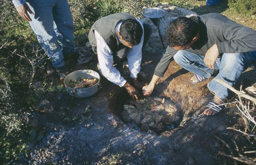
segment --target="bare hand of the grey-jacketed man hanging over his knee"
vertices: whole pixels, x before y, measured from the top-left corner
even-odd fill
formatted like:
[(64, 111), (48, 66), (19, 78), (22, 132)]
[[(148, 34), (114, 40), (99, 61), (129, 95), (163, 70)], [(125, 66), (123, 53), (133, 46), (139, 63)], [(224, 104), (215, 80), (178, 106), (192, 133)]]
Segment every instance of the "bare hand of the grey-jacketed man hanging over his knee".
[(218, 57), (218, 47), (217, 44), (212, 45), (209, 50), (207, 50), (205, 57), (204, 57), (204, 63), (211, 69), (214, 69), (215, 61)]

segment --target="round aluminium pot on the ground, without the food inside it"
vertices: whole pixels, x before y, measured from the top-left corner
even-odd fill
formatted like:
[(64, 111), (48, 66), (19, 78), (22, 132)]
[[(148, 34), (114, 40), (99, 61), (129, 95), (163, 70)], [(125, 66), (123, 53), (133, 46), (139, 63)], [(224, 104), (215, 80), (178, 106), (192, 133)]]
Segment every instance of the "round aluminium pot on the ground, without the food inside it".
[[(71, 88), (71, 87), (67, 86), (69, 84), (70, 80), (76, 80), (79, 78), (92, 78), (92, 77), (98, 78), (99, 81), (91, 87), (75, 89), (75, 88)], [(65, 84), (67, 92), (71, 96), (74, 96), (76, 98), (86, 98), (91, 95), (94, 95), (96, 92), (99, 91), (100, 76), (97, 72), (95, 72), (93, 70), (77, 70), (77, 71), (74, 71), (74, 72), (68, 74), (64, 78), (64, 84)]]

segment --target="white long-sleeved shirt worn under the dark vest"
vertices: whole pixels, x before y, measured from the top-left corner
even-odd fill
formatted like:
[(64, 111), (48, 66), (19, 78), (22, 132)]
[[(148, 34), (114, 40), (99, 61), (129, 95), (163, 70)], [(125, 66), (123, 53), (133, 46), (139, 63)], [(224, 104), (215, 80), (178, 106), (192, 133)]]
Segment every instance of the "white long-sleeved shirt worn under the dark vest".
[[(137, 20), (137, 19), (136, 19)], [(140, 20), (137, 20), (140, 22)], [(122, 22), (119, 22), (115, 27), (115, 35), (118, 39), (119, 43), (122, 43), (117, 35), (117, 32), (120, 29)], [(142, 22), (140, 25), (143, 29)], [(109, 81), (113, 82), (116, 85), (122, 87), (126, 80), (120, 75), (120, 72), (113, 67), (113, 55), (112, 50), (107, 45), (105, 39), (97, 32), (94, 31), (96, 42), (97, 42), (97, 54), (99, 60), (99, 68), (102, 71), (104, 77), (106, 77)], [(132, 78), (137, 78), (138, 73), (140, 72), (140, 63), (142, 58), (142, 46), (144, 40), (144, 29), (143, 35), (141, 37), (140, 43), (138, 45), (134, 45), (132, 48), (129, 48), (127, 59), (128, 59), (128, 67), (131, 73)]]

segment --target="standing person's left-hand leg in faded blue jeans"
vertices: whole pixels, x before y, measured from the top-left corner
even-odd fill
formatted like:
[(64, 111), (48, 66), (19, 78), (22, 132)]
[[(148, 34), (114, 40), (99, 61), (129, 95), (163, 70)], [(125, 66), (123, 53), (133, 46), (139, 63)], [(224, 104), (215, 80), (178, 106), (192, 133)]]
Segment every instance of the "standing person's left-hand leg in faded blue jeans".
[(55, 68), (64, 66), (63, 54), (57, 44), (57, 36), (53, 29), (52, 8), (55, 5), (55, 0), (26, 0), (26, 2), (35, 13), (34, 15), (29, 14), (32, 19), (29, 24), (35, 32), (39, 44), (52, 60), (52, 66)]

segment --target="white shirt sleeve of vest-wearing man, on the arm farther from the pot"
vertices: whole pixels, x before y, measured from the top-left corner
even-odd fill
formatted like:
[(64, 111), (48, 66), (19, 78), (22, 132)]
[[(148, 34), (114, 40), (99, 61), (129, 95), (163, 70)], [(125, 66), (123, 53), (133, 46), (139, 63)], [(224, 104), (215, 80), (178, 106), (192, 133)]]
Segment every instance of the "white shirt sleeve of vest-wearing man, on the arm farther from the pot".
[[(137, 20), (137, 21), (140, 22), (140, 20)], [(143, 29), (142, 22), (140, 22), (140, 25)], [(140, 63), (141, 63), (141, 59), (142, 59), (143, 41), (144, 41), (144, 29), (143, 29), (143, 34), (142, 34), (140, 43), (138, 45), (134, 45), (129, 50), (129, 53), (127, 55), (128, 67), (129, 67), (132, 78), (137, 78), (138, 73), (140, 72)]]

